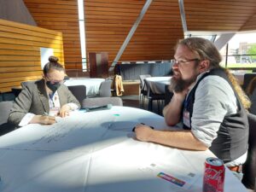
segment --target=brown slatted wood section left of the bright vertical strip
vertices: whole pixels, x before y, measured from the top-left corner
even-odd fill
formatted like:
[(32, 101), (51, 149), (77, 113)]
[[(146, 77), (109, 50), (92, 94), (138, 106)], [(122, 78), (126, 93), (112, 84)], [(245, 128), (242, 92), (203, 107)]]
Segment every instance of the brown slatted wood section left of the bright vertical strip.
[(60, 31), (66, 69), (82, 69), (78, 0), (24, 0), (38, 26)]

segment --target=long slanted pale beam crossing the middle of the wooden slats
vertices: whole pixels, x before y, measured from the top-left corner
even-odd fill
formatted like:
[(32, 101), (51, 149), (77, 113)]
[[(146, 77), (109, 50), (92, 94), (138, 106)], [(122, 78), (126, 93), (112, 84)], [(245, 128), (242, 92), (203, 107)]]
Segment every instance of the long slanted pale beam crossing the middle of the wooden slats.
[(147, 10), (148, 10), (150, 4), (152, 3), (152, 1), (153, 1), (153, 0), (147, 0), (147, 2), (144, 4), (143, 9), (142, 9), (140, 15), (138, 15), (137, 20), (135, 21), (135, 23), (134, 23), (133, 26), (131, 27), (131, 30), (130, 30), (130, 32), (128, 33), (127, 37), (125, 38), (124, 43), (123, 43), (122, 46), (120, 47), (118, 54), (116, 55), (115, 59), (113, 60), (113, 63), (112, 63), (112, 65), (111, 65), (111, 67), (109, 67), (109, 69), (108, 69), (109, 72), (113, 71), (114, 66), (115, 66), (115, 65), (117, 64), (117, 62), (119, 61), (121, 55), (123, 55), (124, 50), (125, 50), (127, 44), (129, 44), (129, 42), (130, 42), (130, 40), (131, 40), (131, 38), (132, 38), (134, 32), (135, 32), (136, 29), (137, 29), (137, 26), (140, 24), (141, 20), (143, 20), (143, 16), (144, 16), (145, 13), (147, 12)]

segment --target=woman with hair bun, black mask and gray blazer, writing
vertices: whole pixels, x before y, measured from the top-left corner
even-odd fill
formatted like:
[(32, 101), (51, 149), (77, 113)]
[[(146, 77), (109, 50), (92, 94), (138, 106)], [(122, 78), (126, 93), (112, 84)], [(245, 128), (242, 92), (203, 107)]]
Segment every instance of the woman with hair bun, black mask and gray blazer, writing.
[(49, 56), (44, 66), (43, 79), (27, 82), (15, 99), (9, 122), (27, 124), (54, 124), (55, 117), (66, 117), (80, 108), (78, 100), (64, 85), (65, 69), (55, 56)]

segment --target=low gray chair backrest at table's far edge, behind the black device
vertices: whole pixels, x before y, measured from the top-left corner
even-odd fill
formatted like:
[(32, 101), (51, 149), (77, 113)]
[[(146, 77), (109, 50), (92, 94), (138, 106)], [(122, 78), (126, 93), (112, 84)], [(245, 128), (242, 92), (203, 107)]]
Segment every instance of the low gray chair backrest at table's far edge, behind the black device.
[(82, 108), (90, 108), (112, 104), (113, 106), (123, 106), (123, 101), (120, 97), (91, 97), (83, 101)]

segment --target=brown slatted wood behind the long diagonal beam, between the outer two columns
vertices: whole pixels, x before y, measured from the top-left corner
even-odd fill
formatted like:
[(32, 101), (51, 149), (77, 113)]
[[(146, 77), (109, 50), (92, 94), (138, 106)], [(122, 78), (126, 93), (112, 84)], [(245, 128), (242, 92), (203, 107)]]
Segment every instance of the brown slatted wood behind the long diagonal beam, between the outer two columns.
[[(108, 52), (109, 65), (145, 1), (84, 0), (87, 52)], [(173, 58), (173, 46), (183, 38), (176, 0), (151, 3), (119, 61), (161, 61)]]

